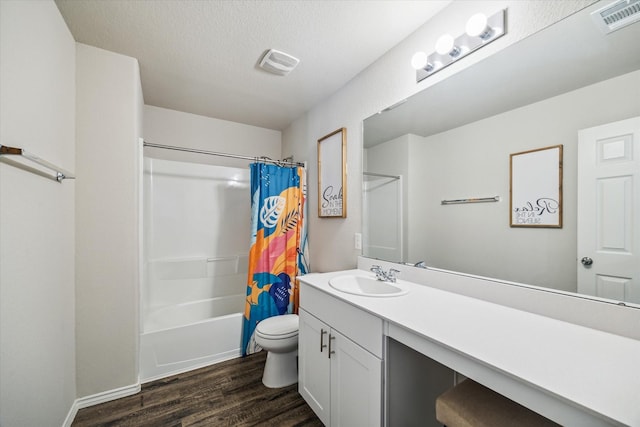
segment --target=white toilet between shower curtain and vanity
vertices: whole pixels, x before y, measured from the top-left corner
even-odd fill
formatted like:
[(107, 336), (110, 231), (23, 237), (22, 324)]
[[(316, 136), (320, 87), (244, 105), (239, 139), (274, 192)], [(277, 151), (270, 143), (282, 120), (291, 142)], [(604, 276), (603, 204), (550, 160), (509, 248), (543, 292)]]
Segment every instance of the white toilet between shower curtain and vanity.
[(298, 315), (283, 314), (264, 319), (255, 331), (256, 344), (267, 353), (262, 383), (269, 388), (298, 382)]

